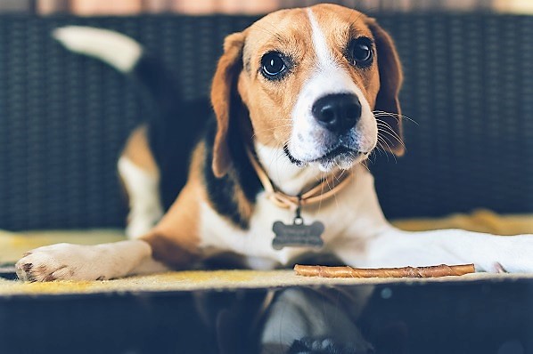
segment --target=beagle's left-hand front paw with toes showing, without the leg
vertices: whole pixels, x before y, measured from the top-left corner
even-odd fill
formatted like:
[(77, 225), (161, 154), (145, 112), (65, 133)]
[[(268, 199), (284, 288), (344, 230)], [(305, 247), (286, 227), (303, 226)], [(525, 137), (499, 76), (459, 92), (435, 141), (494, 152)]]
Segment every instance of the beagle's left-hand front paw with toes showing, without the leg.
[(90, 246), (57, 244), (31, 250), (16, 263), (17, 276), (31, 282), (105, 278), (94, 273), (97, 265), (87, 259), (87, 247)]

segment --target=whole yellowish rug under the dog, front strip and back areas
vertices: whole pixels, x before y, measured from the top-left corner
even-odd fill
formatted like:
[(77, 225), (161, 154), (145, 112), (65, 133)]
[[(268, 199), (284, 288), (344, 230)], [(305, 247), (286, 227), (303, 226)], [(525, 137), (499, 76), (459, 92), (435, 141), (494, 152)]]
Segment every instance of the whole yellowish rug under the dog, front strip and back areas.
[[(400, 229), (470, 229), (498, 235), (533, 233), (533, 216), (501, 216), (488, 211), (477, 211), (470, 215), (457, 214), (442, 219), (419, 219), (394, 222)], [(10, 233), (0, 231), (0, 264), (14, 262), (21, 254), (40, 245), (58, 242), (92, 245), (124, 239), (120, 230), (69, 230)], [(159, 292), (192, 291), (200, 289), (258, 288), (310, 285), (353, 285), (383, 283), (417, 283), (442, 281), (476, 281), (480, 279), (533, 278), (533, 274), (489, 275), (472, 274), (463, 277), (432, 279), (324, 279), (304, 278), (291, 270), (215, 270), (168, 272), (152, 276), (132, 277), (108, 281), (53, 282), (46, 284), (25, 284), (20, 281), (0, 278), (0, 296), (13, 294), (89, 294), (109, 292)]]

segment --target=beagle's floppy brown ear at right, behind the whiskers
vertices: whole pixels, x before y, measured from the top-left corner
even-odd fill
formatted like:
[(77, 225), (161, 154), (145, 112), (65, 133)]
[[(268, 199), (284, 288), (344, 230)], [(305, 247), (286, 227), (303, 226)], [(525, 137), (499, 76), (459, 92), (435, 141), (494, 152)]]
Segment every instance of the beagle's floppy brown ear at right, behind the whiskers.
[(369, 19), (368, 27), (372, 30), (380, 71), (380, 91), (378, 93), (374, 110), (381, 110), (391, 115), (383, 115), (380, 119), (389, 125), (394, 133), (388, 128), (382, 133), (388, 134), (387, 143), (389, 149), (397, 156), (404, 155), (403, 129), (401, 109), (398, 101), (398, 93), (403, 80), (402, 67), (398, 58), (398, 52), (389, 34), (378, 25), (376, 20)]

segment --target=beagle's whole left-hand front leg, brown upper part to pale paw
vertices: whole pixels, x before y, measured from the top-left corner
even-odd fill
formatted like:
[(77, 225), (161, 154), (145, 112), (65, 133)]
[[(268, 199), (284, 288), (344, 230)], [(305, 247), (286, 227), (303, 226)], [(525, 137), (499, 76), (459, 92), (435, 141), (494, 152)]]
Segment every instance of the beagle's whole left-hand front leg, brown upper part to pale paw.
[(193, 230), (198, 219), (195, 192), (194, 186), (185, 187), (160, 223), (143, 237), (102, 245), (39, 247), (17, 262), (17, 275), (29, 281), (96, 280), (168, 270), (165, 265), (191, 267), (200, 253)]

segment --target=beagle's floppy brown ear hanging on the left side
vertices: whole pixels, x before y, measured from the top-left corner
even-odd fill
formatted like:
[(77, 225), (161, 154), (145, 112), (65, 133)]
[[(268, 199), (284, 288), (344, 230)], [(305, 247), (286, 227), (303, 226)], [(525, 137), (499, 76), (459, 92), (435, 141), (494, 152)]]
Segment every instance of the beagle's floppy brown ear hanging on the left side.
[(231, 165), (227, 135), (233, 86), (236, 76), (242, 69), (244, 37), (242, 32), (225, 37), (224, 54), (218, 60), (217, 71), (211, 85), (211, 104), (217, 117), (212, 168), (217, 177), (224, 176)]

